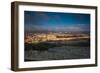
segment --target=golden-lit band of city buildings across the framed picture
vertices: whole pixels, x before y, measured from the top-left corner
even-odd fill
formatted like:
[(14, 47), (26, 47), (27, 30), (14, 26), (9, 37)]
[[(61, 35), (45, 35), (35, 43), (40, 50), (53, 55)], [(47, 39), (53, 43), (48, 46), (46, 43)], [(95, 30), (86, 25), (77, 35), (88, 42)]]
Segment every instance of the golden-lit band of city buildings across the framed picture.
[(66, 34), (66, 33), (31, 33), (25, 35), (25, 43), (38, 43), (57, 40), (72, 40), (89, 38), (87, 34)]

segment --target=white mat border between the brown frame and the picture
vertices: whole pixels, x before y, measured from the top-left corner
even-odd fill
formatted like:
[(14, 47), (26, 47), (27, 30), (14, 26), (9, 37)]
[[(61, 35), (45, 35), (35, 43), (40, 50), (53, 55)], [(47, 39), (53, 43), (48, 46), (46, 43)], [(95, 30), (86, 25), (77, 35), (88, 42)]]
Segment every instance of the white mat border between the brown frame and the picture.
[[(69, 12), (69, 13), (83, 13), (91, 14), (91, 58), (90, 59), (79, 59), (79, 60), (54, 60), (54, 61), (37, 61), (37, 62), (24, 62), (24, 10), (27, 11), (46, 11), (46, 12)], [(48, 6), (28, 6), (19, 5), (19, 55), (18, 63), (19, 68), (35, 68), (35, 67), (50, 67), (50, 66), (63, 66), (63, 65), (84, 65), (84, 64), (95, 64), (95, 9), (83, 9), (83, 8), (63, 8), (63, 7), (48, 7)], [(92, 25), (92, 26), (91, 26)]]

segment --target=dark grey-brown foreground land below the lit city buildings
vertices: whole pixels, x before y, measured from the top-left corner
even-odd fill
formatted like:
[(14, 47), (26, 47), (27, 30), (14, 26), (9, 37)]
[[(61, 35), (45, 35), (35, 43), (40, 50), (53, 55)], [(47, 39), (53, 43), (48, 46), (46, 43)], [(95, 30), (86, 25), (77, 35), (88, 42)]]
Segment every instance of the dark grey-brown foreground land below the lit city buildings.
[(24, 61), (90, 58), (89, 39), (25, 43)]

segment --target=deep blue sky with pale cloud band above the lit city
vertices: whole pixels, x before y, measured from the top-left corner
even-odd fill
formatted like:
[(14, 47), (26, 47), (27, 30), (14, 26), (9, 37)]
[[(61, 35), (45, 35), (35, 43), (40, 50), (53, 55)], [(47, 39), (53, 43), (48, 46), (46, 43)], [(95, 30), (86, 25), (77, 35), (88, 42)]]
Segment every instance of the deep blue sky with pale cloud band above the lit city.
[(24, 11), (27, 31), (89, 32), (90, 14)]

